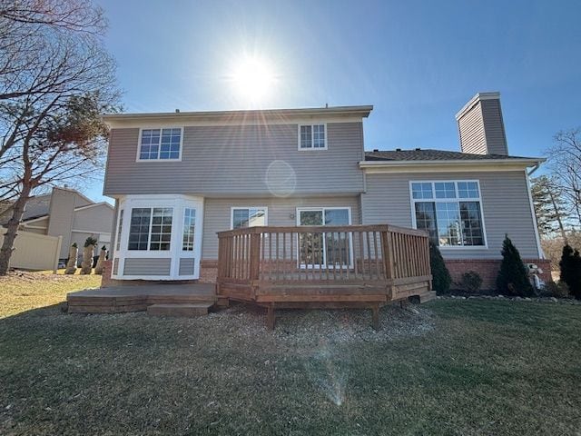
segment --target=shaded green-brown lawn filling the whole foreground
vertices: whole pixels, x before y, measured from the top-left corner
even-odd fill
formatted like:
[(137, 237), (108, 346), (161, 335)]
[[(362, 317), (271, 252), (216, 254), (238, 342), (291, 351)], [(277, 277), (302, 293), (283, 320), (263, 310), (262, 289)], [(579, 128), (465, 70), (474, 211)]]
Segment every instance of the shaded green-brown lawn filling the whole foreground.
[(39, 303), (0, 319), (3, 435), (581, 431), (578, 305), (438, 300), (383, 309), (376, 333), (359, 311), (281, 312), (268, 332), (243, 306), (170, 319)]

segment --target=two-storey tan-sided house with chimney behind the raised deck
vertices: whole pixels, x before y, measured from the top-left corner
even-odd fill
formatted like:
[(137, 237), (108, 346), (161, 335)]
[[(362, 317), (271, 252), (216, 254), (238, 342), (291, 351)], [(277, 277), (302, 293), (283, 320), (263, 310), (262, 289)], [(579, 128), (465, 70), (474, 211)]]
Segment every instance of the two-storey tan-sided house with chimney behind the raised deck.
[(475, 270), (487, 286), (505, 233), (546, 264), (528, 185), (543, 159), (508, 155), (499, 94), (458, 113), (461, 152), (365, 152), (371, 110), (106, 115), (113, 279), (212, 282), (216, 232), (267, 223), (425, 229), (457, 280)]

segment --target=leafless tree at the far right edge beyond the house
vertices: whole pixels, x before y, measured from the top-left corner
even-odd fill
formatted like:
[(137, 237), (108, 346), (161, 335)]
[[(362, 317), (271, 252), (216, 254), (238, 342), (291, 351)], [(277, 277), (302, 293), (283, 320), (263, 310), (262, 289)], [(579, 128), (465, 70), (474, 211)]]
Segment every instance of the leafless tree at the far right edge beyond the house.
[(572, 225), (581, 226), (581, 128), (559, 132), (548, 150), (549, 167), (569, 209)]

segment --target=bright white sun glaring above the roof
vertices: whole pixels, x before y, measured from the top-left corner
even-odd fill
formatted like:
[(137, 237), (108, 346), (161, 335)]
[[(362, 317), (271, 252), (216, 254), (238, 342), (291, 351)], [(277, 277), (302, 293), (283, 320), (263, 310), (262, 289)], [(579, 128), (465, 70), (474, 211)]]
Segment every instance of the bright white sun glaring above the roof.
[(250, 103), (261, 103), (271, 94), (276, 83), (274, 71), (264, 59), (245, 57), (232, 68), (234, 91)]

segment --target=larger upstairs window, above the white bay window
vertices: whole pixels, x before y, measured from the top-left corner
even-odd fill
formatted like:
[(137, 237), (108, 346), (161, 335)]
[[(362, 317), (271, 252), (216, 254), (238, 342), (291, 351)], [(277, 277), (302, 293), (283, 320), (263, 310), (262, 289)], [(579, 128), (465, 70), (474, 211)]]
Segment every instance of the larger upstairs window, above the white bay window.
[(179, 160), (182, 129), (143, 129), (139, 144), (140, 161)]

